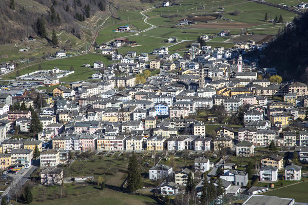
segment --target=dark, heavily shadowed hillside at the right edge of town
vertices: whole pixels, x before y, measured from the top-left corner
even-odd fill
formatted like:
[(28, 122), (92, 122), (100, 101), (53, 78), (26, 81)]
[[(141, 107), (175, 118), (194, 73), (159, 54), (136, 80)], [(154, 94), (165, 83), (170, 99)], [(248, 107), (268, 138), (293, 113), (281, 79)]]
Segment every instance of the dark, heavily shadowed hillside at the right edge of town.
[(308, 83), (308, 11), (295, 17), (262, 51), (261, 67), (276, 67), (283, 79)]

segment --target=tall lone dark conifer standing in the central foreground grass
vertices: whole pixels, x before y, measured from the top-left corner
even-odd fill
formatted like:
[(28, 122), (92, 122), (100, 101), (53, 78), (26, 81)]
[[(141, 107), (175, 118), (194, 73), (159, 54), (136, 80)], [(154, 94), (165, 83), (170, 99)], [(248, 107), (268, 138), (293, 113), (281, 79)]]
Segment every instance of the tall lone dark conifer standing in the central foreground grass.
[(128, 163), (127, 189), (130, 192), (137, 191), (141, 186), (140, 165), (135, 153), (132, 153)]

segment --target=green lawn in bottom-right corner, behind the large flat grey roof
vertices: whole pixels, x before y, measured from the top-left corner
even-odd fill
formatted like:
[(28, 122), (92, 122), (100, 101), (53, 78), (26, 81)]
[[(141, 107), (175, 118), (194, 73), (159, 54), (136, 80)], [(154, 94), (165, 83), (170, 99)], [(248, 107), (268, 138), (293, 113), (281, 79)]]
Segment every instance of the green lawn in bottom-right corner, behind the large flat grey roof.
[[(285, 181), (284, 181), (285, 182)], [(273, 191), (268, 191), (262, 195), (278, 196), (283, 198), (294, 198), (296, 202), (308, 202), (308, 181), (297, 183), (296, 185), (283, 187)]]

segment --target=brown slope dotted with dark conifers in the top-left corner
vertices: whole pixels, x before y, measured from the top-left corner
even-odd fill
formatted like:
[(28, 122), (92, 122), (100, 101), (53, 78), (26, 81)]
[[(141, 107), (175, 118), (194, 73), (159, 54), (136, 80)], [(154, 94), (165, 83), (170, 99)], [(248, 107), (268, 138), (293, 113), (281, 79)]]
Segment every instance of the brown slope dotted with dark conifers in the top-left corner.
[[(3, 0), (0, 4), (0, 44), (30, 35), (63, 29), (82, 38), (81, 24), (97, 11), (105, 11), (107, 0)], [(45, 29), (45, 31), (42, 31)]]

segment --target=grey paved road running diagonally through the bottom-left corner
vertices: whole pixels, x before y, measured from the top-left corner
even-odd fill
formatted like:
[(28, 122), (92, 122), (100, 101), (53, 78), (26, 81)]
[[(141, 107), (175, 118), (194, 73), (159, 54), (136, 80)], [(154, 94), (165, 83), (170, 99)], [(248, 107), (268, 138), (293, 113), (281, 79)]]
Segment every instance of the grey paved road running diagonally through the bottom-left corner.
[[(8, 198), (14, 197), (14, 189), (21, 189), (22, 186), (28, 181), (30, 175), (36, 170), (36, 166), (31, 166), (29, 169), (25, 170), (23, 174), (17, 173), (14, 177), (13, 182), (8, 186), (8, 188), (2, 193), (2, 197), (6, 196)], [(2, 199), (1, 197), (1, 199)]]

